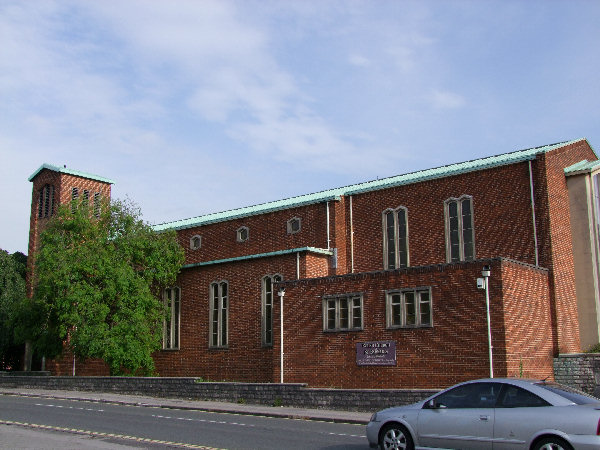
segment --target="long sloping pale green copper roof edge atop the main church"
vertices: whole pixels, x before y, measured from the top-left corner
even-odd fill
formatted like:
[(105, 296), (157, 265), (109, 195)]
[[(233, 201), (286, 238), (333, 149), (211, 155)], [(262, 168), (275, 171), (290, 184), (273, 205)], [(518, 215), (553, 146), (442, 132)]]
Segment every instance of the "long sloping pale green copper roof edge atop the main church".
[(185, 228), (192, 228), (201, 225), (207, 225), (210, 223), (224, 222), (227, 220), (237, 219), (240, 217), (254, 216), (258, 214), (264, 214), (272, 211), (279, 211), (288, 208), (295, 208), (298, 206), (304, 206), (314, 203), (322, 203), (325, 201), (339, 200), (344, 195), (354, 195), (363, 192), (375, 191), (379, 189), (387, 189), (394, 186), (401, 186), (405, 184), (418, 183), (421, 181), (433, 180), (436, 178), (444, 178), (453, 175), (460, 175), (467, 172), (474, 172), (477, 170), (489, 169), (492, 167), (504, 166), (508, 164), (515, 164), (521, 161), (529, 161), (535, 159), (536, 155), (540, 153), (547, 153), (557, 148), (564, 147), (566, 145), (573, 144), (575, 142), (585, 141), (585, 139), (576, 139), (574, 141), (559, 142), (556, 144), (545, 145), (542, 147), (535, 147), (525, 150), (518, 150), (516, 152), (504, 153), (496, 156), (488, 156), (486, 158), (474, 159), (471, 161), (449, 164), (447, 166), (437, 167), (434, 169), (420, 170), (417, 172), (411, 172), (404, 175), (397, 175), (389, 178), (382, 178), (380, 180), (367, 181), (365, 183), (353, 184), (346, 187), (330, 189), (327, 191), (317, 192), (314, 194), (301, 195), (298, 197), (292, 197), (285, 200), (277, 200), (274, 202), (263, 203), (256, 206), (247, 206), (244, 208), (232, 209), (229, 211), (223, 211), (219, 213), (207, 214), (204, 216), (193, 217), (190, 219), (177, 220), (175, 222), (168, 222), (159, 225), (155, 225), (154, 229), (157, 231), (175, 229), (181, 230)]

